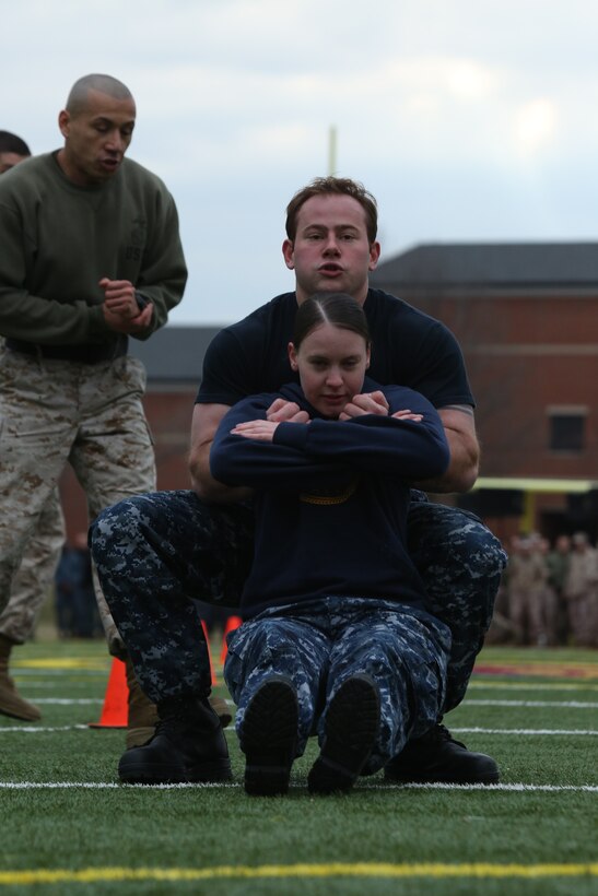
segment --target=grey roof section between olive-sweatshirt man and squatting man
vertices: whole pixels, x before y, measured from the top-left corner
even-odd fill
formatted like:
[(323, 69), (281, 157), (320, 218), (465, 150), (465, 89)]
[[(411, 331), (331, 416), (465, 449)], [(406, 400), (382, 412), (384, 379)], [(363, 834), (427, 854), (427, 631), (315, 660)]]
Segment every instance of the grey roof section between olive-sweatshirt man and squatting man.
[(199, 386), (203, 355), (221, 327), (163, 327), (145, 342), (129, 339), (129, 354), (139, 357), (149, 382)]

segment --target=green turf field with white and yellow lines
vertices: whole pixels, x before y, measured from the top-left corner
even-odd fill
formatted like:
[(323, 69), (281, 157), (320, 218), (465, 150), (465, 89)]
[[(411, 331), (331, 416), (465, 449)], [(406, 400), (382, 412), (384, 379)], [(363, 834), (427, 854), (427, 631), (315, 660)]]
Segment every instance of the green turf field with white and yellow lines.
[(86, 724), (101, 717), (110, 670), (102, 642), (27, 645), (13, 670), (43, 719), (0, 717), (0, 896), (598, 894), (596, 652), (480, 655), (445, 721), (499, 761), (497, 786), (401, 787), (379, 775), (350, 795), (314, 798), (310, 744), (290, 795), (274, 800), (245, 794), (232, 728), (234, 783), (119, 786), (124, 731)]

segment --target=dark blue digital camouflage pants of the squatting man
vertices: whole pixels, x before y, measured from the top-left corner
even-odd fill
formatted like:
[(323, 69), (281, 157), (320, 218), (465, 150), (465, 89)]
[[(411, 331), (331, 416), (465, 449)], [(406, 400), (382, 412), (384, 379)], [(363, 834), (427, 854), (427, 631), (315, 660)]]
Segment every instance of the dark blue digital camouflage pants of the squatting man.
[[(235, 606), (253, 557), (254, 517), (243, 505), (157, 492), (104, 510), (90, 531), (104, 594), (141, 687), (154, 703), (210, 691), (201, 623), (190, 598)], [(505, 553), (469, 512), (414, 500), (409, 549), (426, 610), (450, 629), (444, 711), (462, 699), (492, 618)]]

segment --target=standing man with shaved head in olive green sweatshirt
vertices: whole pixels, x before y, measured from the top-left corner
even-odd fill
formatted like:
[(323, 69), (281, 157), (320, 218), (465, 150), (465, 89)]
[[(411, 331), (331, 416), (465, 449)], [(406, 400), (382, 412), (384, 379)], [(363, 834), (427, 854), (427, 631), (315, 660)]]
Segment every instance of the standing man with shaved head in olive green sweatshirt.
[(67, 463), (91, 518), (155, 488), (145, 372), (128, 339), (164, 326), (187, 268), (171, 193), (125, 157), (134, 122), (125, 84), (85, 75), (58, 117), (63, 145), (0, 178), (0, 612)]

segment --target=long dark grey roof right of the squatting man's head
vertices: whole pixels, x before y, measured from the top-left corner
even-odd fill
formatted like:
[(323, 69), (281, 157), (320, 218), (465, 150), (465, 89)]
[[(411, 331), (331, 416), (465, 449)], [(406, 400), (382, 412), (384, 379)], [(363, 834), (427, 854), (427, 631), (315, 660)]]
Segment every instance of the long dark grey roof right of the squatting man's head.
[(372, 286), (598, 286), (598, 243), (443, 243), (383, 261)]

